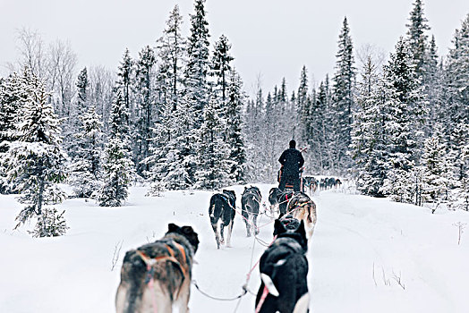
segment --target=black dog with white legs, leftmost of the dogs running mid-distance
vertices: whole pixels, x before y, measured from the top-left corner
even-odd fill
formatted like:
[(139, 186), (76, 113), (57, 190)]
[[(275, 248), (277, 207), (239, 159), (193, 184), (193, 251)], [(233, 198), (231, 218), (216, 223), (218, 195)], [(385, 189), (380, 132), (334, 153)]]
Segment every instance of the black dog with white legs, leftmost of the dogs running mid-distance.
[[(231, 233), (233, 232), (233, 222), (235, 221), (235, 209), (236, 194), (233, 190), (223, 190), (223, 193), (216, 193), (210, 198), (210, 224), (212, 224), (213, 233), (215, 233), (217, 249), (220, 249), (220, 244), (225, 243), (225, 226), (228, 227), (226, 246), (231, 247), (230, 241)], [(219, 232), (218, 224), (220, 224)]]

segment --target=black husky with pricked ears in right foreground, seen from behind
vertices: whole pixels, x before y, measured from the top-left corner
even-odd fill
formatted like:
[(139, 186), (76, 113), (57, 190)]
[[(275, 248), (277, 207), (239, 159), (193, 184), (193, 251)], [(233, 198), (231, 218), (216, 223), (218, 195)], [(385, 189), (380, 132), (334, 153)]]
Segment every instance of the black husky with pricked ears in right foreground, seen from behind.
[(256, 312), (308, 312), (308, 241), (303, 221), (295, 230), (287, 230), (275, 221), (277, 239), (260, 257), (260, 289), (256, 297)]

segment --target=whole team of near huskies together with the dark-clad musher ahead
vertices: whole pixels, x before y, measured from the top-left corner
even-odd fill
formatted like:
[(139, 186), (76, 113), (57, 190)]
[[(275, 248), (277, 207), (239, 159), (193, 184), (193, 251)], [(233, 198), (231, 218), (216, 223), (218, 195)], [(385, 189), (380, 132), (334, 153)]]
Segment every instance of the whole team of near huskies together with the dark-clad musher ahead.
[[(309, 311), (305, 254), (317, 221), (316, 204), (300, 190), (304, 160), (292, 141), (293, 147), (290, 142), (290, 148), (279, 159), (283, 165), (279, 186), (269, 191), (269, 213), (278, 216), (273, 222), (273, 241), (259, 261), (261, 284), (253, 308), (256, 313)], [(265, 213), (260, 210), (261, 200), (255, 186), (244, 188), (241, 208), (236, 207), (234, 190), (223, 190), (210, 198), (209, 222), (217, 249), (224, 244), (231, 246), (236, 214), (243, 218), (247, 237), (260, 233), (257, 219)], [(168, 224), (162, 239), (128, 251), (115, 297), (116, 312), (168, 313), (174, 306), (179, 312), (189, 312), (192, 266), (199, 242), (191, 226)]]

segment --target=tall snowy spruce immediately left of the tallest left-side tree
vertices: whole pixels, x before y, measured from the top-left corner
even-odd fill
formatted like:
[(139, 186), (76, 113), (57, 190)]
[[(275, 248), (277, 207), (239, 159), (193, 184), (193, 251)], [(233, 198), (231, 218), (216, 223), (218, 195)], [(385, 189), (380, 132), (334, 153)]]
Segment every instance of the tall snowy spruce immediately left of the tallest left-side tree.
[(160, 190), (180, 190), (192, 186), (192, 165), (184, 163), (184, 153), (193, 156), (187, 149), (193, 125), (193, 108), (183, 101), (183, 66), (186, 63), (186, 40), (181, 35), (183, 17), (179, 7), (170, 13), (164, 35), (158, 39), (158, 89), (160, 118), (157, 119), (151, 140), (150, 168), (152, 188), (150, 194)]

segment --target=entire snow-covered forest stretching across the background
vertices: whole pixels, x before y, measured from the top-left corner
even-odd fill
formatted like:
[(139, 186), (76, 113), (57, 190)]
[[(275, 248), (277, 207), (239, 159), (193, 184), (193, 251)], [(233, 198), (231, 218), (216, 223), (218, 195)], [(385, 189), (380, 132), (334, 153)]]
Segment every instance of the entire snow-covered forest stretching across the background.
[[(209, 45), (205, 0), (195, 0), (190, 35), (178, 6), (156, 47), (124, 51), (116, 72), (77, 71), (67, 43), (46, 46), (19, 33), (18, 63), (0, 78), (0, 191), (20, 193), (18, 225), (64, 233), (58, 182), (76, 197), (120, 206), (131, 182), (161, 190), (274, 182), (277, 157), (294, 138), (306, 173), (349, 175), (363, 194), (468, 209), (469, 15), (449, 55), (439, 57), (420, 0), (407, 33), (384, 61), (354, 51), (345, 18), (334, 74), (319, 84), (306, 67), (298, 89), (243, 92), (231, 44)], [(358, 59), (358, 63), (355, 62)]]

